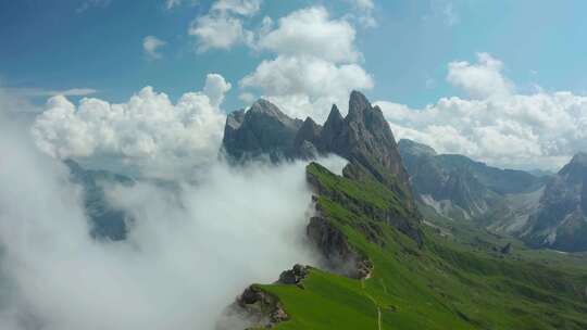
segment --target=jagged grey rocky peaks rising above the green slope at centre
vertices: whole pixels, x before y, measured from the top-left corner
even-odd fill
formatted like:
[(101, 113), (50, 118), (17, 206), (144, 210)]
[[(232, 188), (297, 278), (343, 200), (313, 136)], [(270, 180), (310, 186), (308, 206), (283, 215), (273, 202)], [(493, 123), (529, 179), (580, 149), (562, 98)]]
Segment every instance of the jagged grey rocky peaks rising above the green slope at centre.
[(266, 100), (228, 115), (223, 152), (232, 161), (266, 157), (273, 162), (312, 160), (334, 153), (366, 169), (415, 210), (408, 173), (382, 110), (361, 92), (351, 92), (349, 113), (333, 105), (324, 126), (294, 119)]

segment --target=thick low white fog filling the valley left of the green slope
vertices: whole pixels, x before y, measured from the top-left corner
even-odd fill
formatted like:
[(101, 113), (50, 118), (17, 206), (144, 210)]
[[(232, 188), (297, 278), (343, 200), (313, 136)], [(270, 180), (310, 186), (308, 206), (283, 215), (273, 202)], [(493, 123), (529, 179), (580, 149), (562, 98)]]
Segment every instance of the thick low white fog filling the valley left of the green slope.
[(135, 218), (111, 242), (88, 234), (66, 168), (11, 127), (0, 118), (2, 329), (214, 329), (248, 284), (313, 263), (302, 163), (215, 164), (177, 189), (110, 187)]

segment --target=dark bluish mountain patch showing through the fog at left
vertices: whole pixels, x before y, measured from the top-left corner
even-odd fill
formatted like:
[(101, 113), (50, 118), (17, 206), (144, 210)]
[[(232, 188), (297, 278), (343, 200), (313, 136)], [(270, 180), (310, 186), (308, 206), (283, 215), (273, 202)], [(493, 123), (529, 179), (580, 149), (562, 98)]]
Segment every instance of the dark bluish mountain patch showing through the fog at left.
[(130, 217), (108, 202), (102, 185), (133, 185), (134, 180), (105, 170), (85, 169), (72, 160), (64, 163), (70, 168), (72, 182), (84, 189), (84, 206), (92, 225), (90, 234), (99, 239), (124, 240)]

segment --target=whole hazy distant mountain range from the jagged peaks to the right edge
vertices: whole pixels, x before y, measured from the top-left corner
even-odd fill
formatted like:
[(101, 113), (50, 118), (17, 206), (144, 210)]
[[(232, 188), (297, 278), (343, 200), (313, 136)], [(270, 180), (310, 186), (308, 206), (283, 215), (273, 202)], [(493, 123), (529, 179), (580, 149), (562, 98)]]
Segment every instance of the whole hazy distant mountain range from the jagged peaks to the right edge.
[(584, 180), (587, 156), (558, 174), (501, 169), (401, 140), (399, 149), (421, 203), (438, 214), (513, 234), (534, 248), (587, 250)]

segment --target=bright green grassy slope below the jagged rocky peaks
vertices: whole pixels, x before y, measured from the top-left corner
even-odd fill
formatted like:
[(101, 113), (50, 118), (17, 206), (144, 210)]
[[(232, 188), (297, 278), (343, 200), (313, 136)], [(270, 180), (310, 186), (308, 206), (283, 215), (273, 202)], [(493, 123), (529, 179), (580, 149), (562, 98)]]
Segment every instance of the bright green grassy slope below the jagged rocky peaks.
[(307, 170), (322, 186), (323, 217), (374, 268), (365, 280), (312, 269), (303, 288), (259, 285), (290, 316), (275, 329), (587, 329), (585, 268), (503, 257), (426, 226), (420, 249), (379, 218), (415, 216), (383, 185)]

